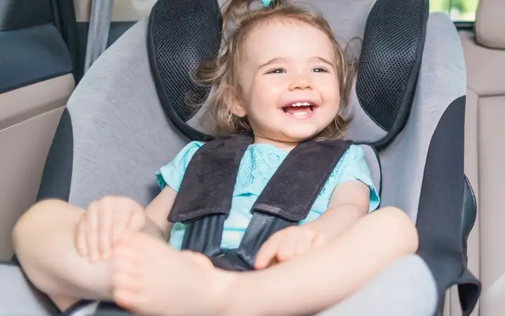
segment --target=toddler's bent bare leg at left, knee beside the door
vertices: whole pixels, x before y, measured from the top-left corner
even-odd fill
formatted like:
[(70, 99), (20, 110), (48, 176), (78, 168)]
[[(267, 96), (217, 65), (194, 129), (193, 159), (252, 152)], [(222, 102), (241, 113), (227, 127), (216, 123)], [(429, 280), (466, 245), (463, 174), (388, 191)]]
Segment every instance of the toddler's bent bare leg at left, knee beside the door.
[(22, 270), (60, 310), (80, 299), (112, 297), (111, 264), (90, 263), (77, 254), (74, 234), (82, 214), (65, 202), (46, 200), (23, 214), (13, 230)]

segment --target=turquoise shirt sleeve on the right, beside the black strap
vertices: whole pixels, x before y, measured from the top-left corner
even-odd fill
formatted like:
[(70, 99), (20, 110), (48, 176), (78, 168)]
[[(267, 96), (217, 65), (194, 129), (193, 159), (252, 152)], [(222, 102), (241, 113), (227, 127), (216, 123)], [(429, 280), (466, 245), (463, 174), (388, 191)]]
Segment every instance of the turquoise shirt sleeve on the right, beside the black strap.
[(377, 209), (380, 203), (379, 193), (370, 175), (370, 169), (365, 161), (365, 152), (357, 145), (351, 145), (347, 150), (341, 164), (338, 166), (338, 171), (335, 173), (337, 177), (336, 186), (347, 181), (361, 181), (370, 188), (370, 207), (369, 212)]

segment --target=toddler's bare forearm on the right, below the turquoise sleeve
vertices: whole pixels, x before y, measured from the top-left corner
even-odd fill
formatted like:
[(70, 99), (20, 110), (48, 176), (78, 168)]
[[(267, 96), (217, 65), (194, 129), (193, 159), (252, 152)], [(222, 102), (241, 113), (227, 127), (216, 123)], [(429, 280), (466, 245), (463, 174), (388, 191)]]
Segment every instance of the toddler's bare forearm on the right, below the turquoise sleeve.
[(369, 207), (370, 188), (358, 180), (348, 181), (335, 187), (328, 210), (306, 226), (326, 239), (334, 239), (365, 216)]

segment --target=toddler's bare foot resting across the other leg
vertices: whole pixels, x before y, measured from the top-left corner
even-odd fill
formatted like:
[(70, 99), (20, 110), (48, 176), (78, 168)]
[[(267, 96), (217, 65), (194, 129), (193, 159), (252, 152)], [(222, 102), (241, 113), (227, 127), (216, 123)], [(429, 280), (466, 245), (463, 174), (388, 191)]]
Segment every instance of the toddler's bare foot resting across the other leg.
[(114, 301), (147, 315), (215, 315), (232, 275), (201, 254), (177, 252), (142, 233), (114, 249)]

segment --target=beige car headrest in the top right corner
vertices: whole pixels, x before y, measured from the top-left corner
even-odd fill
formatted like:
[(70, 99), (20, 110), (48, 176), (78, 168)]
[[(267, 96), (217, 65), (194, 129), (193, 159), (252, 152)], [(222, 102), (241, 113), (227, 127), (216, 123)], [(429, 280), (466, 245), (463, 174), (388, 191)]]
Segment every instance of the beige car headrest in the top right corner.
[(480, 0), (475, 32), (478, 44), (487, 48), (505, 49), (505, 1)]

